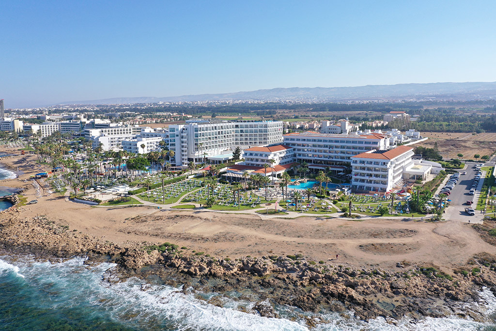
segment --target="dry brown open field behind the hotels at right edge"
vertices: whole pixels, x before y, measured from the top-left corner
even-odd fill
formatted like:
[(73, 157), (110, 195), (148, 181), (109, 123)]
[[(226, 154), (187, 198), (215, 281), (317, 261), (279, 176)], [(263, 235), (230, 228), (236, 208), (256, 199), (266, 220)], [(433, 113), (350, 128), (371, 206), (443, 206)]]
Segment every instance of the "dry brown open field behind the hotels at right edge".
[(422, 132), (429, 139), (416, 146), (434, 147), (437, 141), (439, 153), (444, 158), (456, 158), (462, 153), (464, 158), (473, 158), (475, 154), (492, 155), (496, 150), (496, 133), (466, 133), (466, 132)]

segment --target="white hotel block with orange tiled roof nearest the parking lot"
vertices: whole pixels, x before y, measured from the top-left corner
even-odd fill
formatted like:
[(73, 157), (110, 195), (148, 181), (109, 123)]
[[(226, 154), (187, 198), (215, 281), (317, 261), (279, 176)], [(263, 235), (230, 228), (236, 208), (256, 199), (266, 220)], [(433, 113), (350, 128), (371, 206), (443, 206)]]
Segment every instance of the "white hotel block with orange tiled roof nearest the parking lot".
[[(352, 156), (352, 190), (355, 192), (390, 192), (403, 185), (403, 174), (414, 167), (413, 147), (398, 146), (390, 150), (372, 149)], [(422, 173), (424, 176), (424, 173)]]

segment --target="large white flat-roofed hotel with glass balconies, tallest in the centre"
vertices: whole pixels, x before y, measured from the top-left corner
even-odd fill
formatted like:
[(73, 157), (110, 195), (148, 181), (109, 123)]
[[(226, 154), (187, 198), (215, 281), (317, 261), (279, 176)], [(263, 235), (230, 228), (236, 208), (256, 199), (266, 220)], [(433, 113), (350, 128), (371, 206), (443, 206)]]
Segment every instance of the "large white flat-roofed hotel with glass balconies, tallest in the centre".
[(225, 159), (236, 146), (242, 149), (282, 142), (282, 122), (191, 120), (169, 126), (169, 149), (175, 152), (175, 165), (205, 158)]

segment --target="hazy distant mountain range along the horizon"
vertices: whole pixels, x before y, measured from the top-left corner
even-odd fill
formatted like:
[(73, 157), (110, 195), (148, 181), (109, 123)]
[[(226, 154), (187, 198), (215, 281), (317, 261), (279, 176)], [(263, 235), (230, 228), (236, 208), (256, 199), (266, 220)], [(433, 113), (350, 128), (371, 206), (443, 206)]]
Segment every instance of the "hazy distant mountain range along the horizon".
[(356, 87), (291, 87), (248, 92), (182, 95), (177, 97), (112, 98), (70, 101), (60, 105), (136, 104), (194, 101), (352, 101), (352, 100), (488, 100), (496, 99), (496, 82), (366, 85)]

